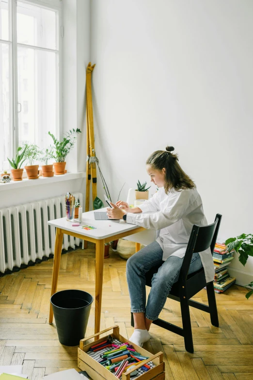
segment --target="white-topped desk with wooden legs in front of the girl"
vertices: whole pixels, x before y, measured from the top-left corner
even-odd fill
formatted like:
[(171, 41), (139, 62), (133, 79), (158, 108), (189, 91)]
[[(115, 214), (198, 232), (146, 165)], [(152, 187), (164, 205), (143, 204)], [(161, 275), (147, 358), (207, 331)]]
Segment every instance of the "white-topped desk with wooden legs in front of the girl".
[[(97, 211), (106, 211), (101, 208)], [(75, 222), (74, 222), (75, 223)], [(105, 243), (113, 240), (125, 238), (128, 235), (144, 231), (145, 228), (137, 225), (130, 225), (123, 220), (95, 220), (94, 211), (84, 212), (82, 214), (82, 223), (80, 225), (91, 225), (96, 227), (94, 230), (85, 230), (80, 227), (73, 227), (72, 222), (67, 222), (66, 218), (55, 219), (48, 222), (49, 225), (56, 227), (56, 238), (53, 261), (53, 278), (51, 295), (57, 291), (57, 282), (60, 270), (61, 254), (63, 247), (63, 234), (74, 236), (76, 238), (93, 242), (96, 245), (95, 250), (95, 334), (100, 330), (101, 300), (103, 285), (103, 266)], [(136, 243), (136, 250), (140, 249), (140, 244)], [(53, 309), (50, 304), (49, 323), (53, 322)], [(98, 339), (99, 336), (96, 337)]]

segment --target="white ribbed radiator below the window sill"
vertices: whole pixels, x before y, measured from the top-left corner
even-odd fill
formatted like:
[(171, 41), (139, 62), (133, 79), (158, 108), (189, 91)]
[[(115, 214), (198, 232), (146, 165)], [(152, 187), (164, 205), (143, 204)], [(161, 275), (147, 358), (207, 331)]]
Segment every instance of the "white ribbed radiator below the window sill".
[[(82, 205), (82, 194), (75, 193)], [(54, 253), (55, 227), (48, 220), (65, 216), (65, 196), (0, 209), (0, 272)], [(63, 235), (63, 249), (80, 240)]]

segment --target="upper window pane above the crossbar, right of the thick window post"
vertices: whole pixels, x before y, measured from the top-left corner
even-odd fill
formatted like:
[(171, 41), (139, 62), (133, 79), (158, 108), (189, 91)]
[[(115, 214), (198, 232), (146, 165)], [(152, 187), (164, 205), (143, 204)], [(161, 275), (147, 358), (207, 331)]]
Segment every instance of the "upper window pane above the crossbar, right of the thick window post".
[(56, 12), (17, 1), (17, 43), (58, 49)]

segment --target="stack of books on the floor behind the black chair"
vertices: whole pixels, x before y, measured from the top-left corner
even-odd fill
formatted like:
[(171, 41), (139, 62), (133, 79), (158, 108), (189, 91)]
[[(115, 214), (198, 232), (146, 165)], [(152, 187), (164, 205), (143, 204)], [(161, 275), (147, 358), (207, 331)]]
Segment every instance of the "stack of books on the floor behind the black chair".
[(230, 277), (227, 266), (234, 259), (234, 250), (228, 252), (224, 242), (216, 242), (213, 252), (213, 262), (215, 268), (214, 291), (216, 293), (225, 292), (236, 282), (235, 277)]

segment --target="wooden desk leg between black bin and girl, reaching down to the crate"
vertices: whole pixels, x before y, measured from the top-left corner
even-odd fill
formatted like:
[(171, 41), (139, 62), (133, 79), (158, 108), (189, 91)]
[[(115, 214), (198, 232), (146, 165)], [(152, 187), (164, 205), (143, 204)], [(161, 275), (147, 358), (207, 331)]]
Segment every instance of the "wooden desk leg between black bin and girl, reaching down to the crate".
[[(100, 330), (105, 240), (96, 241), (96, 278), (95, 278), (95, 334)], [(99, 335), (95, 340), (99, 339)]]

